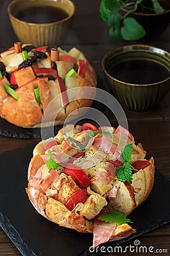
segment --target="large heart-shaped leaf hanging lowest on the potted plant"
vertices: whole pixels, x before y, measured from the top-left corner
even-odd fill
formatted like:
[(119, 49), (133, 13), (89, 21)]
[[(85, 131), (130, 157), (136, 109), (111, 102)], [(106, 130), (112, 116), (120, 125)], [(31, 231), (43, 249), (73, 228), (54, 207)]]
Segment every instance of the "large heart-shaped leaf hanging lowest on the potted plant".
[(121, 28), (121, 35), (124, 40), (138, 40), (146, 35), (144, 28), (133, 18), (125, 18)]

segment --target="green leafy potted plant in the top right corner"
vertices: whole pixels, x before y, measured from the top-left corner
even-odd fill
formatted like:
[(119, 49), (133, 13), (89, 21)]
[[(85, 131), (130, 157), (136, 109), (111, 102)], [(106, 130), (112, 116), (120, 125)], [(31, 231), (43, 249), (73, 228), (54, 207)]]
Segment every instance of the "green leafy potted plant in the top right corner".
[(101, 18), (111, 27), (114, 41), (152, 39), (167, 28), (169, 0), (101, 0)]

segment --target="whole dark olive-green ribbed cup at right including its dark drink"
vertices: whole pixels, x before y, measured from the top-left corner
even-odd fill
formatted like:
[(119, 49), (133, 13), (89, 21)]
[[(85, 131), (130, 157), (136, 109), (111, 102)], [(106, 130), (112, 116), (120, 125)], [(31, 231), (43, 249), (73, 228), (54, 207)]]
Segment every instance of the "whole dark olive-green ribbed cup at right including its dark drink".
[[(133, 61), (135, 64), (128, 66)], [(170, 53), (163, 49), (140, 44), (116, 48), (104, 56), (102, 65), (113, 95), (130, 110), (153, 108), (170, 89)], [(141, 73), (143, 65), (147, 69)]]

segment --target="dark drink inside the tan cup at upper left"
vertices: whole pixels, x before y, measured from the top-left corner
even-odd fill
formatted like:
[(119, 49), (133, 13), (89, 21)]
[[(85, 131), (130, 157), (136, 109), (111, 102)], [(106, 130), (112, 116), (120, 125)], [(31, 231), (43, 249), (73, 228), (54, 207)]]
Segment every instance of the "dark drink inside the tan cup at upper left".
[(67, 17), (66, 11), (52, 6), (30, 7), (16, 15), (16, 18), (19, 20), (38, 24), (58, 22)]

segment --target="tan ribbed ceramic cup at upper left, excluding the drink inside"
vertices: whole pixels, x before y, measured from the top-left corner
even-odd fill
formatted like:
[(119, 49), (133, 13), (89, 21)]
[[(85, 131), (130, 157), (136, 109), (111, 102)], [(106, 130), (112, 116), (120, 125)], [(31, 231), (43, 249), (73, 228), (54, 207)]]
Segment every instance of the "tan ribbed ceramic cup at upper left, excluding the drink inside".
[[(29, 7), (51, 6), (64, 10), (67, 18), (52, 23), (29, 23), (16, 18)], [(8, 15), (16, 36), (22, 43), (35, 46), (62, 44), (69, 34), (73, 22), (75, 6), (69, 0), (14, 0), (8, 5)]]

